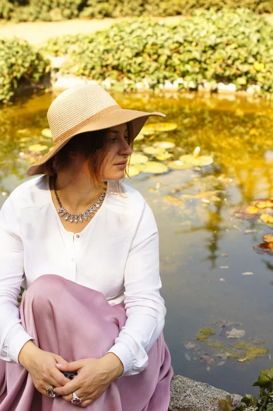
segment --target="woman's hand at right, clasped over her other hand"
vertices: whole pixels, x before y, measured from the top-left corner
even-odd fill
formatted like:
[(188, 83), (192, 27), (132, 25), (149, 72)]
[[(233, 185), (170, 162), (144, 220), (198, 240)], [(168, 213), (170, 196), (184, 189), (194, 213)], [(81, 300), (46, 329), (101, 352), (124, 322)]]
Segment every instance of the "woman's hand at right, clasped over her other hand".
[(107, 390), (111, 382), (123, 373), (121, 360), (113, 353), (99, 358), (87, 358), (67, 362), (67, 364), (56, 364), (62, 371), (78, 371), (78, 376), (61, 388), (56, 388), (56, 394), (62, 395), (65, 401), (71, 401), (72, 393), (76, 393), (82, 400), (80, 407), (85, 408)]

